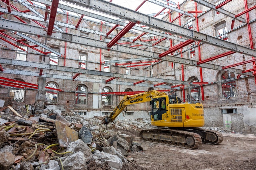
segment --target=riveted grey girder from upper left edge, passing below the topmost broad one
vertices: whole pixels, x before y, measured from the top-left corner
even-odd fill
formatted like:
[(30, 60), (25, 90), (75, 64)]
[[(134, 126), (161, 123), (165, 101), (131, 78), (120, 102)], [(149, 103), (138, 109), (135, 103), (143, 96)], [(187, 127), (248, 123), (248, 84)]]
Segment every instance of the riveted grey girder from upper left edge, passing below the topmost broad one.
[[(124, 54), (147, 57), (147, 58), (156, 59), (156, 60), (160, 59), (158, 57), (159, 55), (158, 53), (150, 52), (143, 49), (132, 48), (132, 47), (123, 46), (123, 45), (115, 45), (115, 46), (112, 46), (111, 48), (107, 48), (106, 43), (100, 40), (95, 40), (95, 39), (63, 33), (63, 32), (54, 32), (52, 33), (52, 36), (49, 36), (45, 33), (44, 30), (42, 30), (40, 27), (37, 27), (37, 26), (31, 26), (24, 23), (9, 21), (2, 18), (0, 18), (0, 22), (2, 23), (0, 25), (1, 29), (19, 31), (19, 32), (23, 32), (31, 35), (40, 35), (41, 37), (48, 37), (48, 38), (56, 39), (59, 41), (70, 42), (74, 44), (80, 44), (84, 46), (90, 46), (90, 47), (101, 48), (106, 50), (112, 50), (114, 52), (119, 52)], [(164, 56), (160, 60), (198, 67), (197, 65), (198, 61), (180, 58), (180, 57)], [(222, 70), (223, 66), (215, 65), (215, 64), (204, 63), (204, 64), (201, 64), (200, 67), (223, 71)], [(242, 73), (243, 70), (240, 70), (240, 69), (229, 68), (229, 69), (226, 69), (225, 71), (252, 76), (252, 73)]]

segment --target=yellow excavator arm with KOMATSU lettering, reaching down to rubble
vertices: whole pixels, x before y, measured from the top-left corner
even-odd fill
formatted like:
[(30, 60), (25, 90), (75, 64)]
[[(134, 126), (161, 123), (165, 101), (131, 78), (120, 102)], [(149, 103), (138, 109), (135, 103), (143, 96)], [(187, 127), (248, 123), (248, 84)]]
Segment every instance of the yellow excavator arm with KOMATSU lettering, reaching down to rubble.
[(152, 100), (153, 97), (163, 95), (167, 94), (155, 90), (139, 93), (136, 95), (125, 95), (121, 102), (117, 105), (117, 107), (110, 113), (110, 115), (105, 116), (102, 124), (108, 124), (110, 122), (113, 122), (127, 105), (149, 102)]

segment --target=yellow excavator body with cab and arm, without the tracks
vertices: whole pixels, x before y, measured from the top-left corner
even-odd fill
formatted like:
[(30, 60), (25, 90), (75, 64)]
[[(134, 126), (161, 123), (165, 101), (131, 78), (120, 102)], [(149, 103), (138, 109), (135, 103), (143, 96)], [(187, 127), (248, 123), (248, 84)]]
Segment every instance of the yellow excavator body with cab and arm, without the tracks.
[(150, 102), (151, 124), (159, 127), (202, 127), (204, 112), (201, 103), (182, 103), (177, 96), (155, 90), (126, 95), (118, 106), (105, 117), (103, 123), (113, 122), (127, 105)]

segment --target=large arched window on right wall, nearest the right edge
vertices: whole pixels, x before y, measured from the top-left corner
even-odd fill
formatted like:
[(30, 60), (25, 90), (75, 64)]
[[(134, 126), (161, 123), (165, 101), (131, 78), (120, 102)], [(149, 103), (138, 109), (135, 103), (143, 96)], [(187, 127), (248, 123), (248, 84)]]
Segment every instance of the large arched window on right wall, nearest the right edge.
[(222, 88), (222, 97), (235, 97), (236, 94), (236, 82), (235, 82), (235, 74), (224, 72), (221, 75), (221, 88)]

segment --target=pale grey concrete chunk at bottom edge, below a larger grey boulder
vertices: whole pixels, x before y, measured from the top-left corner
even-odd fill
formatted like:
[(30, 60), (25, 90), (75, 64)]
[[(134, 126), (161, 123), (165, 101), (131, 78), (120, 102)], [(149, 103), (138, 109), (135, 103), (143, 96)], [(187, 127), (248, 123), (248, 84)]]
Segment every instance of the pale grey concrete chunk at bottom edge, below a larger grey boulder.
[(62, 164), (65, 170), (87, 170), (86, 162), (85, 155), (79, 151), (67, 157)]

